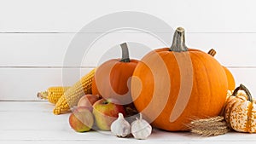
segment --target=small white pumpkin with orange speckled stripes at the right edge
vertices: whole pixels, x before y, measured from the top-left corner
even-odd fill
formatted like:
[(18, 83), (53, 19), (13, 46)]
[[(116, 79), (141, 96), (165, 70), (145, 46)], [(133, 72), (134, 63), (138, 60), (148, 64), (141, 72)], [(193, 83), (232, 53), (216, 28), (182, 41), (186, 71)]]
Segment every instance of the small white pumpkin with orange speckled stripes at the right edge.
[[(245, 95), (238, 90), (243, 90)], [(240, 132), (256, 132), (256, 104), (249, 90), (241, 84), (228, 96), (224, 118), (231, 129)]]

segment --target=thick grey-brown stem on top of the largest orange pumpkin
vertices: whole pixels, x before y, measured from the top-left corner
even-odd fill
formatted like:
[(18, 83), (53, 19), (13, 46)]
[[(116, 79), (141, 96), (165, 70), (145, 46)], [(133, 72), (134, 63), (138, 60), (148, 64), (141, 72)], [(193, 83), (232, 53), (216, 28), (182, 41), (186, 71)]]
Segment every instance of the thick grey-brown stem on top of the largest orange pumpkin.
[(188, 47), (185, 44), (185, 30), (183, 27), (177, 27), (176, 31), (174, 32), (170, 51), (188, 51)]

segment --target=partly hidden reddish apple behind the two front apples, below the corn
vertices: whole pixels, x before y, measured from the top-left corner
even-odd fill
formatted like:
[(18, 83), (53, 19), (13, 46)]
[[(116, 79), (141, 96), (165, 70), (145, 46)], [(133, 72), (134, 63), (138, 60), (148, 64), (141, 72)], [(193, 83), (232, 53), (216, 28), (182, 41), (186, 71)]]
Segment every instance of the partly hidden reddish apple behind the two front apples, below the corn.
[(92, 111), (92, 105), (100, 99), (100, 95), (84, 95), (79, 99), (78, 107), (88, 107)]

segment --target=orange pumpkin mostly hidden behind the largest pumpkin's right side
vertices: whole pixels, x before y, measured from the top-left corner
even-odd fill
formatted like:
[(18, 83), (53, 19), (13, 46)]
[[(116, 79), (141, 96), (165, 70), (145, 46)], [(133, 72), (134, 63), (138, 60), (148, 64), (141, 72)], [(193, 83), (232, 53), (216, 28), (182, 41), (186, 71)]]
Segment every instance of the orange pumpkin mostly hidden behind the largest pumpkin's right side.
[[(208, 54), (214, 57), (214, 55), (216, 55), (216, 51), (214, 49), (210, 49), (208, 51)], [(232, 91), (236, 88), (235, 78), (233, 77), (232, 73), (227, 67), (223, 66), (223, 68), (224, 68), (224, 71), (226, 72), (226, 76), (228, 79), (228, 89)]]

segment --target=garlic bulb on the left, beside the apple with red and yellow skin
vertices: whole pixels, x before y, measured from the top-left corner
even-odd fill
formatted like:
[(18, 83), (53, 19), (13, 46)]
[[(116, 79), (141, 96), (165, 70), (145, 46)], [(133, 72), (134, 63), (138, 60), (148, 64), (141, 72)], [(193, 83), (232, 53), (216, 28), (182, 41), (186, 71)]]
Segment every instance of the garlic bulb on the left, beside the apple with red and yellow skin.
[(117, 118), (110, 126), (110, 130), (113, 135), (118, 137), (125, 137), (131, 134), (131, 125), (125, 120), (122, 113), (119, 113)]

